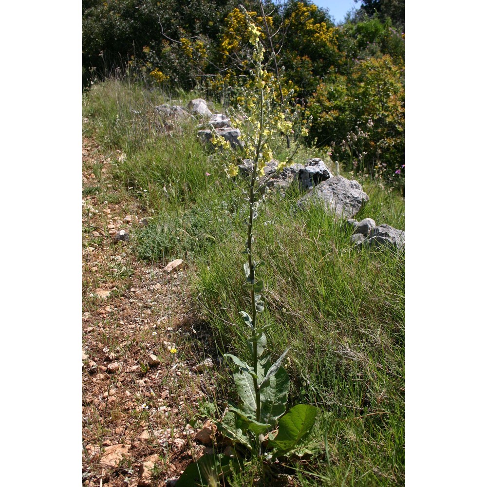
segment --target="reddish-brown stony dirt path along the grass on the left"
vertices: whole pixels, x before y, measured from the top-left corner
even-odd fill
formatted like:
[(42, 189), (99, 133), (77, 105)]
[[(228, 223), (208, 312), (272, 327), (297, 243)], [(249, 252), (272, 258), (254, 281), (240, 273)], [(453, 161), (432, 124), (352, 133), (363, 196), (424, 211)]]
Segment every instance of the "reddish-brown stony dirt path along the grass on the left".
[[(166, 485), (203, 454), (195, 413), (214, 379), (195, 370), (207, 336), (188, 269), (137, 261), (133, 230), (150, 215), (111, 181), (120, 155), (83, 141), (83, 485)], [(114, 241), (121, 229), (131, 240)]]

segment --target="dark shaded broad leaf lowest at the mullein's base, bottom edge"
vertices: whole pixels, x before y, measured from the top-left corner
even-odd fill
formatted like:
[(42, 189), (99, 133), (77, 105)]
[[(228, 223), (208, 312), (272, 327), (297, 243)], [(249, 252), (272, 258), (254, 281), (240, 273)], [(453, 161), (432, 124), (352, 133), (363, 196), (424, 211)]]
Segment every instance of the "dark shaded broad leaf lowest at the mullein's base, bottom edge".
[(190, 463), (186, 467), (184, 473), (179, 477), (176, 486), (207, 486), (210, 475), (218, 479), (221, 476), (227, 475), (230, 471), (238, 471), (240, 468), (237, 458), (230, 458), (223, 453), (204, 455), (197, 462)]

